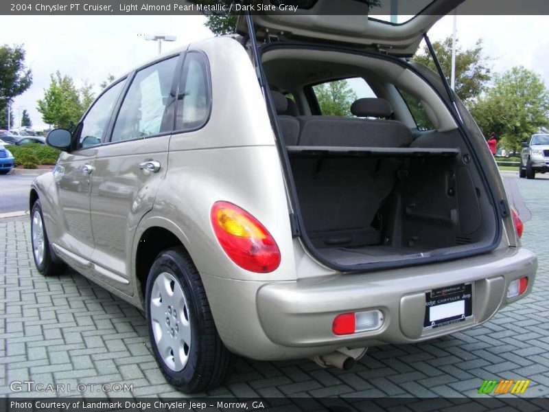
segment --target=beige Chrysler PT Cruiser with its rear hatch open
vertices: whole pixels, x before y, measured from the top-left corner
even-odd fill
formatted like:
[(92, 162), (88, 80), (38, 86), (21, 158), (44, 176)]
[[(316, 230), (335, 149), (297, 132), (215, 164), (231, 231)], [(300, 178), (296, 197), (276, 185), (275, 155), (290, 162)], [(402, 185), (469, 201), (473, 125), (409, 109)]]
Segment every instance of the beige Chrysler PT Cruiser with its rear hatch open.
[[(338, 4), (358, 10), (240, 19), (240, 35), (130, 71), (47, 137), (63, 152), (30, 192), (38, 271), (67, 264), (143, 308), (182, 391), (220, 385), (233, 354), (347, 369), (533, 287), (480, 130), (408, 61), (456, 1), (396, 26)], [(338, 88), (344, 113), (326, 99)]]

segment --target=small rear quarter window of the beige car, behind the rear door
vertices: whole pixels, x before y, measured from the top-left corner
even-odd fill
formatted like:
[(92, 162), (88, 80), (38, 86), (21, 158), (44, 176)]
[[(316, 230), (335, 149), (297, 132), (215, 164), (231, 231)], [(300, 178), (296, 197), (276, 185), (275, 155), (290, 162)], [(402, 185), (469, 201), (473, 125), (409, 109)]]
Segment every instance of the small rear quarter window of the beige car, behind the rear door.
[(199, 128), (207, 122), (210, 114), (210, 84), (204, 55), (187, 53), (177, 98), (177, 130)]

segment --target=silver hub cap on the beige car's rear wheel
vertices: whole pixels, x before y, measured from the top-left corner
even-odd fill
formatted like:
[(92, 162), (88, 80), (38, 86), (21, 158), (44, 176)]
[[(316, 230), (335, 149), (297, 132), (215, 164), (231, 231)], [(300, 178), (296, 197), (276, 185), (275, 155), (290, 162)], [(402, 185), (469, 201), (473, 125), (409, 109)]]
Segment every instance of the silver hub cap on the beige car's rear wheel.
[(183, 288), (171, 273), (163, 272), (154, 280), (150, 318), (163, 362), (173, 371), (180, 371), (189, 359), (191, 323)]

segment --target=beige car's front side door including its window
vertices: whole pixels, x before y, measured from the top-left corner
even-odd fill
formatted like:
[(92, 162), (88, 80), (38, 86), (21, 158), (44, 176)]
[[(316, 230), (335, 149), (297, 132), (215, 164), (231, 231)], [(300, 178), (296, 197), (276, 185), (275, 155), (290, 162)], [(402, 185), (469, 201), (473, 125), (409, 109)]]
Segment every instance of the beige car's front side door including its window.
[[(70, 153), (61, 152), (54, 169), (65, 225), (58, 246), (84, 260), (91, 258), (95, 247), (91, 229), (90, 192), (97, 145), (106, 132), (113, 107), (123, 87), (124, 80), (114, 84), (95, 100), (73, 135), (77, 140), (76, 149)], [(75, 259), (73, 263), (80, 268), (82, 260)], [(89, 268), (84, 263), (80, 269), (87, 272)]]

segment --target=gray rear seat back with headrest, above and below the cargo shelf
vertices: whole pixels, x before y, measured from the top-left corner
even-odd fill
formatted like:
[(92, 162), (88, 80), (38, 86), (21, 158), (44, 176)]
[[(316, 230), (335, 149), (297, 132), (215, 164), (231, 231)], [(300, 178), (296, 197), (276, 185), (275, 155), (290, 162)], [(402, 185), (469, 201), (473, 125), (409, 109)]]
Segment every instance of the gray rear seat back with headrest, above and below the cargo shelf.
[[(388, 102), (359, 102), (355, 114), (389, 117)], [(399, 148), (412, 142), (395, 120), (299, 116), (298, 146)], [(381, 242), (378, 211), (393, 190), (397, 159), (296, 157), (292, 172), (305, 229), (319, 248)]]

